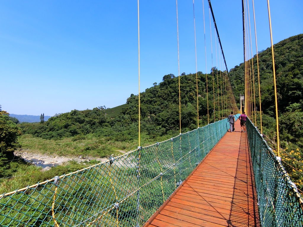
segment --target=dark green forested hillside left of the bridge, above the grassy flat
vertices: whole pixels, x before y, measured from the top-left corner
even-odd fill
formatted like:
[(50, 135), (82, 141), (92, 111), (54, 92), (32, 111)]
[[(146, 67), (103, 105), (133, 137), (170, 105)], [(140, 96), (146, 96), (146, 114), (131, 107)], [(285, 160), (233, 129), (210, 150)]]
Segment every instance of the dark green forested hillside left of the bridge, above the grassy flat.
[[(218, 84), (223, 83), (223, 73), (213, 69), (218, 75)], [(199, 122), (200, 126), (207, 124), (207, 96), (206, 75), (198, 72), (199, 88)], [(212, 92), (212, 77), (208, 77), (209, 90)], [(221, 89), (215, 84), (215, 110), (216, 120), (227, 114), (222, 111), (225, 104), (221, 103)], [(196, 96), (196, 74), (182, 74), (180, 77), (181, 89), (181, 128), (182, 132), (197, 127), (197, 96)], [(222, 91), (222, 98), (225, 95)], [(214, 121), (213, 96), (209, 94), (210, 122)], [(110, 137), (111, 140), (126, 141), (136, 139), (138, 133), (138, 95), (131, 94), (126, 105), (120, 106), (116, 111), (120, 114), (114, 115), (115, 110), (105, 108), (94, 108), (93, 110), (72, 110), (68, 113), (58, 114), (44, 123), (22, 123), (20, 127), (25, 134), (32, 134), (43, 139), (62, 139), (77, 135), (94, 133), (96, 136)], [(220, 108), (220, 112), (219, 112)], [(226, 107), (225, 107), (226, 108)], [(107, 114), (107, 117), (106, 114)], [(112, 114), (111, 114), (112, 113)], [(163, 77), (158, 85), (155, 83), (141, 93), (141, 120), (142, 132), (149, 137), (173, 136), (179, 130), (179, 95), (178, 78), (173, 74)]]

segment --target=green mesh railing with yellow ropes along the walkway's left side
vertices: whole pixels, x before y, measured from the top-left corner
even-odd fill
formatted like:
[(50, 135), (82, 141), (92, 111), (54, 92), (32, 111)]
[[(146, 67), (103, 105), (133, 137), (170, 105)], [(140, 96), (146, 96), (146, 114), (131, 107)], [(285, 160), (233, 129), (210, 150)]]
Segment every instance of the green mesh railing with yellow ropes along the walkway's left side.
[(142, 226), (229, 128), (226, 119), (0, 195), (0, 225)]

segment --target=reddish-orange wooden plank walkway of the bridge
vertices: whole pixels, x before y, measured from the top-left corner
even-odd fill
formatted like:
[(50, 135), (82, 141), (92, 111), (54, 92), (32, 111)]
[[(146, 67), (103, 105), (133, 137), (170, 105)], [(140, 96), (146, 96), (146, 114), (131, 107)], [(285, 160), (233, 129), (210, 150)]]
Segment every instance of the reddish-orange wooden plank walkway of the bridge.
[(145, 227), (260, 226), (246, 133), (240, 121)]

